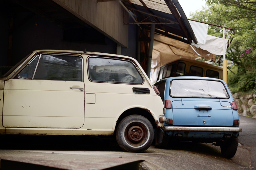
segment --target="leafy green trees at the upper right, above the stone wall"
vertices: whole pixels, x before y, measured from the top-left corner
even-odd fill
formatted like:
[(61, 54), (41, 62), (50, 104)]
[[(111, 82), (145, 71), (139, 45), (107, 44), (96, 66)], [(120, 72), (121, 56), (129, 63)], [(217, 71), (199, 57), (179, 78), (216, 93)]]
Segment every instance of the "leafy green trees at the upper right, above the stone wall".
[[(206, 2), (207, 6), (203, 10), (190, 14), (191, 19), (235, 30), (226, 54), (226, 58), (233, 63), (231, 68), (236, 70), (235, 75), (228, 74), (229, 88), (233, 92), (256, 92), (256, 0)], [(229, 30), (229, 36), (231, 33)], [(210, 25), (208, 34), (222, 38), (222, 28)]]

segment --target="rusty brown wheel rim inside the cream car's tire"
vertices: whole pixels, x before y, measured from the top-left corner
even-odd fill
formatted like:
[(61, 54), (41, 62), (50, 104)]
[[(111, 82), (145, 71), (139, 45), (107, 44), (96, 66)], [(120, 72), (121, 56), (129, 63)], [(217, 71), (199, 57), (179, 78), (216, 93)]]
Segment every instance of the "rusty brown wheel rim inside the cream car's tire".
[(126, 140), (132, 145), (140, 145), (147, 138), (147, 131), (140, 123), (131, 124), (126, 127)]

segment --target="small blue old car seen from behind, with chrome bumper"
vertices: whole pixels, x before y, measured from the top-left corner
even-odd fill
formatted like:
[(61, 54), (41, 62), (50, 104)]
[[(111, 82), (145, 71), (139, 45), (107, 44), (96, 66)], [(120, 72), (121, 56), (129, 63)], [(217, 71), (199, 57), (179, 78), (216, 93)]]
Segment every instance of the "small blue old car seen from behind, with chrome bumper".
[(171, 77), (157, 82), (166, 121), (156, 146), (168, 141), (214, 142), (226, 158), (236, 154), (237, 105), (226, 83), (208, 77)]

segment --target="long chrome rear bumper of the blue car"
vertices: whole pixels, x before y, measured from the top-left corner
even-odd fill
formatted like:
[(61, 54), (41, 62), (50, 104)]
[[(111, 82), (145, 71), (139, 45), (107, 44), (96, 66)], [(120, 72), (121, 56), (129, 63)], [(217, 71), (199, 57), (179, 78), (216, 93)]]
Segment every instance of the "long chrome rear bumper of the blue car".
[(184, 126), (164, 126), (163, 131), (167, 132), (242, 132), (242, 128), (227, 127), (184, 127)]

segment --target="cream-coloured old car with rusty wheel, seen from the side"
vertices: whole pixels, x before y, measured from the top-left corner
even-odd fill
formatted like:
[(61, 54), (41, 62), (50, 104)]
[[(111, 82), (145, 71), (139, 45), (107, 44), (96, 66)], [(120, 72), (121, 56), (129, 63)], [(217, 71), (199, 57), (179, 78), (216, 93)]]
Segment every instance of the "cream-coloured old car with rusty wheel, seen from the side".
[(0, 78), (0, 121), (1, 134), (115, 132), (122, 149), (143, 152), (166, 119), (157, 88), (133, 58), (40, 50)]

